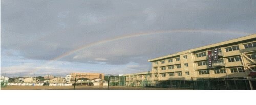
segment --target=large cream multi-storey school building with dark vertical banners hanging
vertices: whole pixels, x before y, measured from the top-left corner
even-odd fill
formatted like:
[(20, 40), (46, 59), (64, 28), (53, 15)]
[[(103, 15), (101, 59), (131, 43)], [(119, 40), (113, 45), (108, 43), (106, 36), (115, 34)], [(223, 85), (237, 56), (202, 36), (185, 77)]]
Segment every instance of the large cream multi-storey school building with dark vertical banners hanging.
[[(136, 76), (151, 74), (148, 80), (153, 83), (193, 78), (245, 78), (256, 71), (256, 34), (148, 61), (152, 63), (152, 71)], [(132, 75), (125, 75), (126, 83)]]

